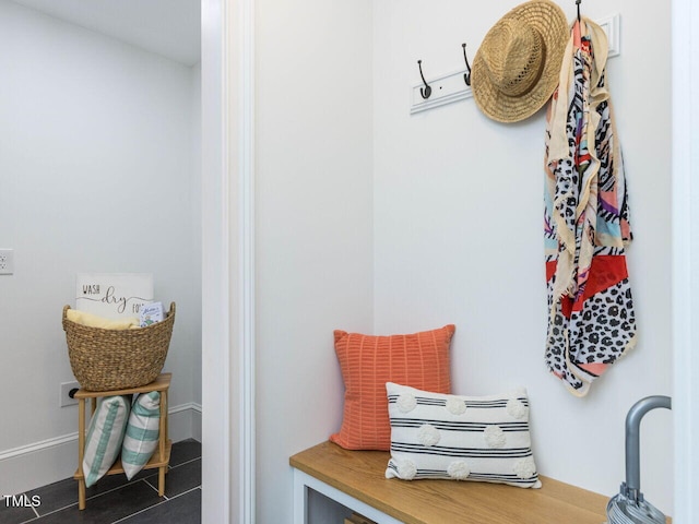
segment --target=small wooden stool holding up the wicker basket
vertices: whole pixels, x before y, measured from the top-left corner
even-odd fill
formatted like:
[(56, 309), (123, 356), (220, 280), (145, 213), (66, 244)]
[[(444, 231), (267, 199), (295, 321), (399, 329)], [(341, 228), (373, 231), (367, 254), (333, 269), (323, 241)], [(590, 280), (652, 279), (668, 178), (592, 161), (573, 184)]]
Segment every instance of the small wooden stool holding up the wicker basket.
[[(85, 509), (85, 475), (83, 473), (83, 457), (85, 453), (85, 401), (92, 398), (92, 413), (95, 413), (97, 407), (97, 398), (103, 396), (115, 395), (132, 395), (134, 393), (150, 393), (151, 391), (161, 392), (161, 421), (159, 421), (159, 436), (158, 436), (158, 449), (153, 453), (153, 456), (147, 462), (143, 469), (158, 468), (158, 484), (157, 495), (163, 497), (165, 495), (165, 474), (167, 473), (167, 466), (170, 462), (170, 450), (173, 442), (167, 438), (167, 391), (170, 386), (170, 379), (173, 373), (161, 373), (153, 382), (139, 388), (128, 388), (125, 390), (114, 391), (87, 391), (78, 390), (73, 398), (78, 400), (78, 471), (73, 478), (78, 480), (78, 508)], [(117, 458), (117, 462), (109, 468), (106, 475), (116, 475), (123, 473), (121, 466), (121, 458)]]

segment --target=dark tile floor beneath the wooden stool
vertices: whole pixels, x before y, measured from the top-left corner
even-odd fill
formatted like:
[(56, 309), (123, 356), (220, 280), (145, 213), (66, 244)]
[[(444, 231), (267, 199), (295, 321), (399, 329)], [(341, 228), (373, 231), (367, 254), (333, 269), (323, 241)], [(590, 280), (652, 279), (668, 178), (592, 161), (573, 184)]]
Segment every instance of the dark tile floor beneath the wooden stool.
[(100, 478), (87, 489), (87, 507), (78, 510), (78, 483), (67, 478), (0, 500), (0, 524), (200, 524), (201, 443), (173, 444), (165, 497), (157, 496), (157, 469)]

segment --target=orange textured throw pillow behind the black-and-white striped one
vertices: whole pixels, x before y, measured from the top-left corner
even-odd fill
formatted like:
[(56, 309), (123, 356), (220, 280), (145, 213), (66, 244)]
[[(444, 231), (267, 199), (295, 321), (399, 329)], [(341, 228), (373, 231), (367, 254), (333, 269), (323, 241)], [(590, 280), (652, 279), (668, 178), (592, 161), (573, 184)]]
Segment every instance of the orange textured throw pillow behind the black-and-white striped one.
[(449, 346), (453, 324), (412, 335), (370, 336), (335, 331), (345, 383), (342, 428), (330, 437), (347, 450), (391, 448), (386, 383), (451, 393)]

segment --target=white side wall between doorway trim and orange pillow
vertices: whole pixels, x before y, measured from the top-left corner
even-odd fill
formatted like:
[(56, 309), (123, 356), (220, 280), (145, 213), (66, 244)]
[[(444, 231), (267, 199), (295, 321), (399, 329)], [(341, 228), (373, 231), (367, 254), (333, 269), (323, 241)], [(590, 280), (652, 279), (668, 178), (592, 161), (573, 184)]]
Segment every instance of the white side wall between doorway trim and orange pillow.
[(371, 2), (256, 2), (257, 519), (340, 425), (334, 329), (372, 329)]

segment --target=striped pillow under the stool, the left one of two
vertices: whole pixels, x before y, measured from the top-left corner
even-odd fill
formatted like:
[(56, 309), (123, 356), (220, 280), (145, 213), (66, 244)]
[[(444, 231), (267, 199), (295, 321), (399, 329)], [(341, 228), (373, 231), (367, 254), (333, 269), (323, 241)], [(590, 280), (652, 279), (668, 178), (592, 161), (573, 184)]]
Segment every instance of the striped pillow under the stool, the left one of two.
[(117, 460), (128, 418), (129, 401), (126, 397), (106, 396), (97, 403), (83, 455), (86, 487), (99, 480)]

